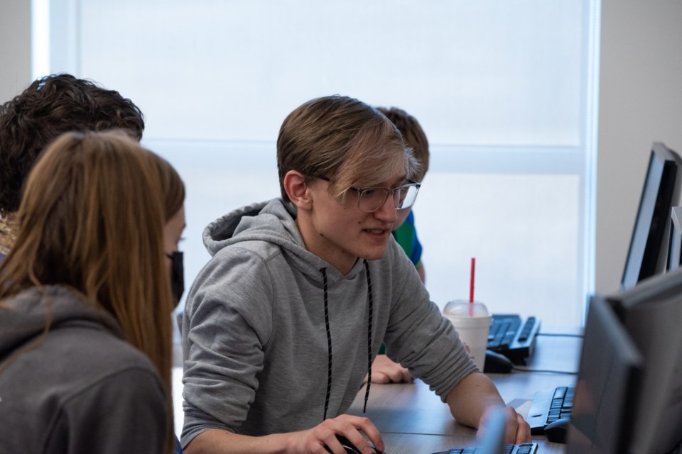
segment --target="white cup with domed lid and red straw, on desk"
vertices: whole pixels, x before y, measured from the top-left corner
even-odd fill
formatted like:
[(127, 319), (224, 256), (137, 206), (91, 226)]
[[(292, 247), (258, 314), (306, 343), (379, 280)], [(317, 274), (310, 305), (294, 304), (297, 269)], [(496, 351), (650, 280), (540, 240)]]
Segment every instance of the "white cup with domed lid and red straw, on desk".
[(485, 304), (480, 301), (470, 303), (464, 299), (455, 299), (445, 304), (443, 316), (453, 323), (470, 358), (482, 372), (488, 345), (488, 331), (492, 323), (492, 316), (488, 314)]

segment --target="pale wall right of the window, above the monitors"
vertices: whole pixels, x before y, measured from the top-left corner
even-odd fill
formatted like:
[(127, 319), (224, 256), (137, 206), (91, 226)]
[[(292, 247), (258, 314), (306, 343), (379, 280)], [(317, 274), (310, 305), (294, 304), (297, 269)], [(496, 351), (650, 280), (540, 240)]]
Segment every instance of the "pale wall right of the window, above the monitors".
[(682, 153), (682, 2), (602, 0), (595, 289), (618, 289), (651, 143)]

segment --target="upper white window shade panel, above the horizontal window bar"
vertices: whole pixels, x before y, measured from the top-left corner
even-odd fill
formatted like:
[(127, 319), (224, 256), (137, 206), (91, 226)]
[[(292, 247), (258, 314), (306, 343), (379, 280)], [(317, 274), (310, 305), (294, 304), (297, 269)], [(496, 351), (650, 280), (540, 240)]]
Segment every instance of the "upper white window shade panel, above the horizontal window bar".
[(149, 138), (272, 140), (301, 102), (403, 106), (433, 143), (580, 145), (581, 1), (81, 0), (80, 72)]

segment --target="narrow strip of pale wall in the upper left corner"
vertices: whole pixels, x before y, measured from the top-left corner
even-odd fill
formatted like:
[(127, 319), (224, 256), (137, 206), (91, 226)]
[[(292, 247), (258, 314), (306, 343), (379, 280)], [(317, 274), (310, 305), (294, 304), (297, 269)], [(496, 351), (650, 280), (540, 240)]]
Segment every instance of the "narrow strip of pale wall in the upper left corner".
[(0, 103), (31, 83), (31, 1), (0, 1)]

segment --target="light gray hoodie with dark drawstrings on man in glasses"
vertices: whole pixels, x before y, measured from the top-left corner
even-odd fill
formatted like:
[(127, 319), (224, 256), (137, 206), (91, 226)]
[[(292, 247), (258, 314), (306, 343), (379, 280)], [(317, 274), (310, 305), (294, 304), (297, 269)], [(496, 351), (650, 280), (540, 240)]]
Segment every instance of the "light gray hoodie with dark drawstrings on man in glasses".
[(210, 428), (259, 436), (343, 414), (381, 341), (441, 399), (477, 370), (392, 238), (342, 275), (305, 249), (293, 216), (274, 199), (204, 230), (213, 257), (183, 318), (183, 446)]

